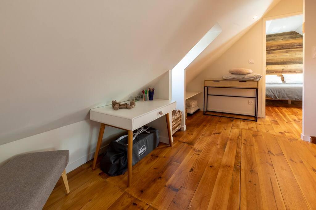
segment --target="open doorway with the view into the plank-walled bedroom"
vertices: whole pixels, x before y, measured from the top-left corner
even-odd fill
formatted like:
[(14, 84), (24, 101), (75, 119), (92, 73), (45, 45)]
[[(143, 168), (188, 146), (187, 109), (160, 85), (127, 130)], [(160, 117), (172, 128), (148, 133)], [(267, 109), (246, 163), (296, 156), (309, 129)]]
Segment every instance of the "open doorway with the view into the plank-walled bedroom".
[[(265, 115), (295, 121), (301, 129), (303, 100), (303, 15), (263, 19)], [(288, 119), (288, 118), (293, 119)]]

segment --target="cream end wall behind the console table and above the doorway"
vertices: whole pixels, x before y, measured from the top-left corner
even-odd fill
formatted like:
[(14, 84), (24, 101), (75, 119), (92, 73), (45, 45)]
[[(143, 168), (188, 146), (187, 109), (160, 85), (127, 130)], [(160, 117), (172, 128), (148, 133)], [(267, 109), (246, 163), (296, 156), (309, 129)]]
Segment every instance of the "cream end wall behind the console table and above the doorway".
[[(302, 0), (282, 0), (265, 16), (277, 16), (301, 12), (303, 9)], [(204, 79), (220, 79), (224, 74), (228, 74), (231, 68), (250, 68), (254, 73), (262, 75), (262, 20), (259, 20), (249, 31), (235, 42), (224, 54), (215, 62), (211, 63), (186, 86), (188, 91), (203, 91)], [(225, 33), (223, 30), (222, 33)], [(254, 60), (254, 64), (249, 64), (249, 59)], [(198, 106), (203, 108), (203, 94), (195, 97)], [(225, 103), (225, 101), (223, 101)], [(245, 106), (252, 106), (244, 104)], [(262, 116), (262, 80), (259, 82), (258, 116)]]

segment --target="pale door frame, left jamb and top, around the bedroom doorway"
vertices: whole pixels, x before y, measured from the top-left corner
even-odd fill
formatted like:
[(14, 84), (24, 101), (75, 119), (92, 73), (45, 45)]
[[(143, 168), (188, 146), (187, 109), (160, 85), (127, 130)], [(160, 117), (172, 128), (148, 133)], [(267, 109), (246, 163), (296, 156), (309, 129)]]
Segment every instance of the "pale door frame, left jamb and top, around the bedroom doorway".
[[(266, 48), (265, 48), (265, 22), (267, 20), (275, 20), (275, 19), (280, 19), (280, 18), (286, 18), (290, 16), (296, 16), (296, 15), (301, 15), (303, 12), (295, 12), (295, 13), (289, 13), (289, 14), (282, 14), (282, 15), (277, 15), (277, 16), (272, 16), (272, 17), (267, 17), (262, 19), (262, 116), (265, 117), (265, 54), (266, 54)], [(304, 22), (304, 17), (303, 17), (303, 22)], [(303, 43), (304, 44), (304, 43)], [(303, 64), (304, 65), (304, 64)], [(304, 86), (304, 84), (303, 84)]]

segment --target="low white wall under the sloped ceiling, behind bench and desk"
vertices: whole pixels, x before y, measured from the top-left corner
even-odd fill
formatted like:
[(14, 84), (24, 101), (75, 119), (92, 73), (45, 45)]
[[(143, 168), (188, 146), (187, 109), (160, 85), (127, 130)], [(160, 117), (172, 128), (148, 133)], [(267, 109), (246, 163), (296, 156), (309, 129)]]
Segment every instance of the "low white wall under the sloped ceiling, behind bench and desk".
[[(93, 158), (99, 129), (100, 123), (84, 120), (1, 145), (0, 166), (14, 156), (24, 153), (69, 150), (69, 164), (66, 171), (70, 172)], [(106, 127), (101, 152), (110, 140), (124, 133), (122, 130)]]

